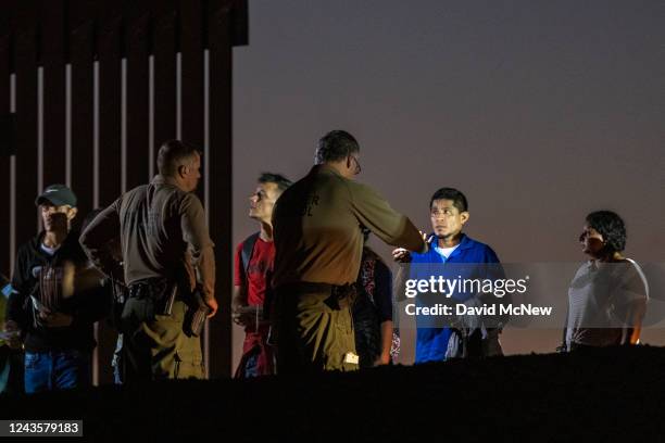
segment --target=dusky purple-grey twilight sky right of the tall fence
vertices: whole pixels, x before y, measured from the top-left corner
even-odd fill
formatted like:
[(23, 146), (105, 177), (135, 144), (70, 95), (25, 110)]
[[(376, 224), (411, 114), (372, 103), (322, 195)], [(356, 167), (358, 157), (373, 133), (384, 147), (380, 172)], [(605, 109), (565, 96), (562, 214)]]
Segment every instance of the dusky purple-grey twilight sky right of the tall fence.
[[(234, 243), (256, 228), (256, 176), (302, 177), (317, 139), (341, 128), (361, 144), (359, 180), (423, 229), (450, 186), (469, 200), (466, 231), (503, 262), (582, 261), (577, 237), (599, 208), (625, 218), (628, 256), (665, 261), (662, 1), (252, 0), (249, 12), (250, 45), (234, 49)], [(535, 336), (502, 341), (545, 352), (559, 338)]]

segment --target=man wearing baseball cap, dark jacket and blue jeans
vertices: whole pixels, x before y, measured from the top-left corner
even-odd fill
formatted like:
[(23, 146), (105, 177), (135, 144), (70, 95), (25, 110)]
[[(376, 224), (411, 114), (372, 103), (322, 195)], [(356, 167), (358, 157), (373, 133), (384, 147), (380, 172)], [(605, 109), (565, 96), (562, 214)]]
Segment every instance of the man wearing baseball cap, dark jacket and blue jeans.
[(99, 298), (75, 291), (76, 269), (87, 257), (72, 233), (76, 195), (51, 185), (35, 200), (43, 229), (18, 249), (7, 307), (9, 342), (25, 349), (25, 391), (35, 393), (90, 383), (92, 325), (105, 315)]

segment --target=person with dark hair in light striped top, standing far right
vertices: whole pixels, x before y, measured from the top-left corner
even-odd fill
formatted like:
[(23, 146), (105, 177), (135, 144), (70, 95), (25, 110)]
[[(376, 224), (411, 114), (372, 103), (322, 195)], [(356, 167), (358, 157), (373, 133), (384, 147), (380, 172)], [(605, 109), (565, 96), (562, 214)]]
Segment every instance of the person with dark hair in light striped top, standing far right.
[(587, 215), (579, 236), (589, 261), (568, 289), (564, 349), (637, 344), (649, 299), (644, 274), (624, 257), (626, 227), (611, 211)]

